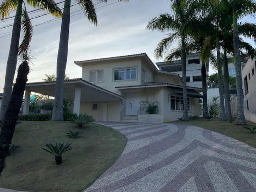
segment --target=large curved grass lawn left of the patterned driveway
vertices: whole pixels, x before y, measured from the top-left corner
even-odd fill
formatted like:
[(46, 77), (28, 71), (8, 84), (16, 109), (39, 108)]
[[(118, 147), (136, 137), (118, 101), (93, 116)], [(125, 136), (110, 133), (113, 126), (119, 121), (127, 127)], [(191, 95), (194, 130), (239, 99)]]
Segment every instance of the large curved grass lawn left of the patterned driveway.
[[(66, 136), (79, 130), (80, 138)], [(63, 154), (63, 163), (56, 165), (54, 156), (41, 147), (49, 142), (73, 143)], [(92, 123), (77, 128), (63, 121), (23, 121), (16, 126), (13, 142), (20, 148), (6, 158), (0, 186), (30, 192), (76, 192), (90, 186), (121, 155), (127, 138), (118, 131)]]

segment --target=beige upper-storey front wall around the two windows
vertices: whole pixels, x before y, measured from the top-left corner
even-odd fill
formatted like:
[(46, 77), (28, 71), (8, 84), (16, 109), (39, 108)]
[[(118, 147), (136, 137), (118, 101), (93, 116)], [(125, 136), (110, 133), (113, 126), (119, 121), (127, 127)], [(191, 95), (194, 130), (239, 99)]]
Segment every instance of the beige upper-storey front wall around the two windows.
[[(113, 69), (126, 68), (126, 67), (137, 67), (137, 79), (135, 80), (124, 80), (124, 81), (113, 81)], [(122, 60), (109, 60), (104, 62), (83, 64), (82, 67), (82, 79), (89, 81), (90, 71), (103, 70), (103, 82), (95, 83), (104, 89), (120, 94), (120, 91), (116, 89), (117, 86), (129, 86), (129, 85), (140, 85), (141, 84), (141, 60), (128, 58)]]

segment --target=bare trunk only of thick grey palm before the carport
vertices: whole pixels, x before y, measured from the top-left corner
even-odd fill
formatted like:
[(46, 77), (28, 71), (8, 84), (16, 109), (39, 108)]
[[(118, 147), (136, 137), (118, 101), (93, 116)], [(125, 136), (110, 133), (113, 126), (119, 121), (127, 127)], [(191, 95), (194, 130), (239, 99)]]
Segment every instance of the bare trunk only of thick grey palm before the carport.
[(55, 99), (52, 113), (52, 120), (63, 121), (63, 92), (64, 77), (68, 57), (69, 44), (69, 23), (70, 23), (70, 2), (65, 1), (63, 17), (61, 22), (61, 31), (59, 38), (59, 51), (57, 56), (57, 76), (55, 87)]

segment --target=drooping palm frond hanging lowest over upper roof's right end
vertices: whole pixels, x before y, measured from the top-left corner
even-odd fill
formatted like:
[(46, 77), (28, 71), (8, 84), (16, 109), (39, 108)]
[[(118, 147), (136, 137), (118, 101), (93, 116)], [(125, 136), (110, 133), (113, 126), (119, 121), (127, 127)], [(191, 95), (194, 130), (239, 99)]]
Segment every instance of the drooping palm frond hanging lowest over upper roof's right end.
[(173, 42), (177, 39), (179, 39), (179, 32), (167, 34), (167, 37), (158, 43), (157, 48), (154, 50), (154, 56), (157, 59), (162, 58), (166, 50), (172, 46)]

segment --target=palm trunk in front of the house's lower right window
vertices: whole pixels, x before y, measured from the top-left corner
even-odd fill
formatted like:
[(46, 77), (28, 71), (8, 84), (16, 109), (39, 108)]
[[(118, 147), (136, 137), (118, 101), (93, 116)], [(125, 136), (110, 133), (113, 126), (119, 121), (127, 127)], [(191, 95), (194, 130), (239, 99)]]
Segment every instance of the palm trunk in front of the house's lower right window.
[(183, 84), (183, 117), (182, 121), (189, 121), (187, 108), (187, 61), (185, 51), (185, 39), (181, 39), (181, 62), (182, 62), (182, 84)]

